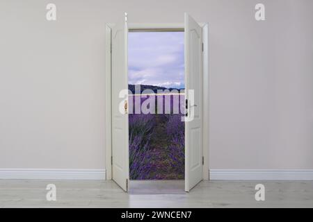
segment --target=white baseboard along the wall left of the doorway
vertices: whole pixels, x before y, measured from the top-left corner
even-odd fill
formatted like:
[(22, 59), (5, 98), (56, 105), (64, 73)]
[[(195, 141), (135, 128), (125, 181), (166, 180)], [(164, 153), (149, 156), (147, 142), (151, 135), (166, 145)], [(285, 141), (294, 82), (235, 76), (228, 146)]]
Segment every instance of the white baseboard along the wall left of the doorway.
[(105, 169), (0, 169), (0, 179), (105, 180)]

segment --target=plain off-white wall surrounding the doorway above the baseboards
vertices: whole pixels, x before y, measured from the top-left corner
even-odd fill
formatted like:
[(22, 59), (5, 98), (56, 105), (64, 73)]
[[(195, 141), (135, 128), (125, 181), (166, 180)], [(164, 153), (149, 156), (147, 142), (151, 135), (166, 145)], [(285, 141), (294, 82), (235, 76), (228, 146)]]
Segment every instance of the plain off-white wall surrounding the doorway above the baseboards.
[(0, 0), (0, 169), (104, 169), (104, 23), (125, 11), (129, 22), (184, 12), (209, 22), (210, 169), (313, 169), (312, 10), (310, 0)]

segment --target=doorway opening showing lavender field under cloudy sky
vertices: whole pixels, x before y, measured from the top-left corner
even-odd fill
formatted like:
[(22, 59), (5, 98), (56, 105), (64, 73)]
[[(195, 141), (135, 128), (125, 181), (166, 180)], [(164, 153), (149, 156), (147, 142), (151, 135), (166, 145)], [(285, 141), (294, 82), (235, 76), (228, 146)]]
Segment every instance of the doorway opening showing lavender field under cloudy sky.
[(184, 29), (129, 31), (129, 179), (184, 180)]

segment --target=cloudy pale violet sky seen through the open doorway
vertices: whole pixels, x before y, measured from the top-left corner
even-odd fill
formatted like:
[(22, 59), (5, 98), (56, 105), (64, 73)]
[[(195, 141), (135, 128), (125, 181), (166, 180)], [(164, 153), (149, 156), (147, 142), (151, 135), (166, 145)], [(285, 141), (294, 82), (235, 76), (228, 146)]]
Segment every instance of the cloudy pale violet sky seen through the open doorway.
[(184, 88), (184, 33), (129, 33), (129, 84)]

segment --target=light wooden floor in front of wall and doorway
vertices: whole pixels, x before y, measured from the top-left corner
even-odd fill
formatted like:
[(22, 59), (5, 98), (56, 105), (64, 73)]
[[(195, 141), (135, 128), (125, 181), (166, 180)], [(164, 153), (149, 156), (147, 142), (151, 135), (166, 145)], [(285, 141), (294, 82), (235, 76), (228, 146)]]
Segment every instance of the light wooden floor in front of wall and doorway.
[[(53, 183), (57, 200), (47, 201)], [(255, 200), (255, 185), (266, 200)], [(313, 181), (204, 181), (184, 192), (184, 181), (131, 181), (126, 194), (112, 181), (0, 180), (0, 207), (313, 207)]]

